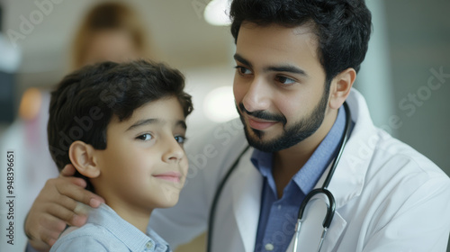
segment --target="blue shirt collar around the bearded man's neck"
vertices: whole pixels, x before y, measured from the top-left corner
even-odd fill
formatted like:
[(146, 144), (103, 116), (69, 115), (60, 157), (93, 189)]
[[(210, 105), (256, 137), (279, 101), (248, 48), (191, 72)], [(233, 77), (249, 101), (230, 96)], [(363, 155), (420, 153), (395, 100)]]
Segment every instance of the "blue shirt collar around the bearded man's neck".
[[(309, 193), (314, 188), (322, 173), (336, 156), (345, 127), (346, 111), (341, 107), (338, 111), (338, 117), (325, 139), (320, 142), (319, 147), (316, 148), (305, 165), (293, 175), (293, 182), (298, 185), (302, 193)], [(267, 178), (272, 177), (273, 153), (267, 153), (255, 148), (250, 160), (261, 175)]]

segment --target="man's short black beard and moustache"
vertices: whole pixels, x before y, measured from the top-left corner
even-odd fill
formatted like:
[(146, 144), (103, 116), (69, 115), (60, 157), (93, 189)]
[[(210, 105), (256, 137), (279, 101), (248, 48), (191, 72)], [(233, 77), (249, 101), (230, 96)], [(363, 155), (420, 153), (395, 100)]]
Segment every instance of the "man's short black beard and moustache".
[[(264, 152), (276, 152), (285, 148), (291, 148), (304, 139), (309, 138), (316, 130), (320, 128), (320, 125), (325, 118), (325, 111), (327, 109), (329, 92), (324, 92), (319, 104), (314, 108), (307, 118), (297, 121), (293, 126), (286, 127), (286, 118), (282, 114), (270, 114), (265, 111), (248, 112), (243, 103), (238, 104), (238, 113), (240, 121), (244, 125), (244, 131), (248, 144)], [(272, 140), (264, 141), (263, 137), (265, 132), (263, 130), (255, 130), (247, 126), (242, 113), (247, 113), (256, 118), (279, 121), (283, 124), (283, 134)], [(254, 136), (250, 134), (249, 130), (253, 131)]]

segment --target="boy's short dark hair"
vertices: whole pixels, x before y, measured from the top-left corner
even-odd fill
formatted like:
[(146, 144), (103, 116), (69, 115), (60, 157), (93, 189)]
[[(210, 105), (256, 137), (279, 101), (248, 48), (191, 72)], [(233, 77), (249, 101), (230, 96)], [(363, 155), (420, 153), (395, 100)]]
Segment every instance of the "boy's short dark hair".
[(127, 120), (140, 106), (172, 96), (180, 102), (184, 116), (193, 111), (191, 95), (184, 93), (184, 76), (145, 60), (103, 62), (65, 76), (51, 93), (47, 128), (51, 157), (61, 170), (71, 163), (68, 148), (76, 140), (105, 149), (113, 115)]

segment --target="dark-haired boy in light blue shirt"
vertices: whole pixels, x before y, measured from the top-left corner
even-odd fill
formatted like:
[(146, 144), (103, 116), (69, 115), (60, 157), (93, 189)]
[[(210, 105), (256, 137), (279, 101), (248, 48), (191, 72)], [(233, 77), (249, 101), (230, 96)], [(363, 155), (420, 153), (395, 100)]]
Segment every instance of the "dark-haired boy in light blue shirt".
[(51, 251), (170, 251), (147, 226), (153, 209), (178, 201), (192, 110), (184, 76), (162, 64), (104, 62), (66, 76), (51, 94), (51, 156), (58, 169), (73, 164), (105, 204)]

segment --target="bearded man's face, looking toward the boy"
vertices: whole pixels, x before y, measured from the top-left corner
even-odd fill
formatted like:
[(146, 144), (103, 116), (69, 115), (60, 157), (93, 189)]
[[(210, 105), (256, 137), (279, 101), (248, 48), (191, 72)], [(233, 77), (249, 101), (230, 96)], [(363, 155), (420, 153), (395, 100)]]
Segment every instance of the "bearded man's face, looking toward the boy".
[(329, 101), (311, 28), (243, 23), (236, 45), (233, 91), (249, 144), (275, 152), (311, 137)]

